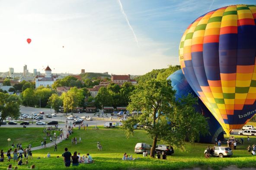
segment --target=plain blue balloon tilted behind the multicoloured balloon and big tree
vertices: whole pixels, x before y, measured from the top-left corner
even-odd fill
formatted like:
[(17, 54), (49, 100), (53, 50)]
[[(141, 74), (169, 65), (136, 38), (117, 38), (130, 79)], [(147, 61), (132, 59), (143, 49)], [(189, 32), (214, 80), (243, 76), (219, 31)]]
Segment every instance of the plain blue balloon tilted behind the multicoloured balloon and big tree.
[[(182, 74), (181, 70), (175, 71), (171, 74), (167, 80), (171, 80), (173, 90), (176, 90), (175, 98), (176, 101), (179, 101), (183, 96), (188, 96), (191, 93), (194, 97), (198, 98), (192, 88), (189, 86), (188, 81)], [(195, 111), (204, 115), (204, 117), (208, 117), (208, 126), (209, 126), (209, 134), (206, 136), (200, 136), (199, 142), (204, 143), (215, 143), (215, 139), (224, 140), (224, 133), (221, 127), (221, 124), (215, 119), (215, 117), (211, 114), (208, 108), (202, 103), (200, 99), (198, 99), (198, 105), (195, 105)]]

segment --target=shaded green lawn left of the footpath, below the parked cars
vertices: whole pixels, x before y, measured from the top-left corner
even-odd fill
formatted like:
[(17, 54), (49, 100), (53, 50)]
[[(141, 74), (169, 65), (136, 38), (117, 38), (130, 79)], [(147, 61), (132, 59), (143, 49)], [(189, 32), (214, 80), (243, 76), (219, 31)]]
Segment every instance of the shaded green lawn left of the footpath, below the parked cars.
[[(20, 125), (21, 126), (21, 125)], [(58, 131), (57, 131), (58, 133)], [(46, 133), (43, 133), (42, 127), (29, 127), (29, 128), (0, 128), (0, 149), (3, 149), (4, 152), (8, 150), (8, 141), (7, 139), (11, 139), (10, 147), (14, 142), (16, 147), (17, 143), (22, 143), (22, 147), (27, 147), (29, 144), (32, 147), (40, 146), (41, 141), (46, 137)], [(50, 142), (49, 137), (47, 138), (47, 142)]]

